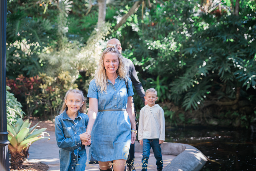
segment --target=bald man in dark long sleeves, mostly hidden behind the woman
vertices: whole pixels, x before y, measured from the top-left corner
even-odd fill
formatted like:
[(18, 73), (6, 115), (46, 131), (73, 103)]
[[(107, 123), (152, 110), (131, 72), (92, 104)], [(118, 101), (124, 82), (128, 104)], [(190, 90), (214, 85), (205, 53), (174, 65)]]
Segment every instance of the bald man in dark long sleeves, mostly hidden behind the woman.
[[(121, 46), (121, 43), (118, 39), (112, 38), (112, 39), (108, 40), (107, 44), (116, 45), (117, 50), (120, 52), (120, 54), (122, 54), (122, 46)], [(143, 101), (143, 103), (145, 105), (147, 105), (148, 103), (144, 99), (145, 91), (142, 87), (141, 82), (139, 81), (139, 78), (138, 78), (137, 74), (136, 74), (136, 70), (135, 70), (133, 62), (130, 59), (127, 59), (127, 58), (124, 58), (124, 61), (125, 61), (125, 67), (128, 71), (128, 76), (130, 77), (130, 79), (133, 83), (133, 86), (135, 87), (135, 90), (137, 91), (138, 95), (141, 97), (141, 100)], [(133, 161), (135, 160), (135, 156), (134, 156), (135, 151), (134, 150), (135, 150), (134, 144), (131, 144), (130, 151), (129, 151), (130, 157), (126, 161), (127, 171), (131, 171), (132, 169), (134, 171), (136, 171), (135, 168), (133, 168)]]

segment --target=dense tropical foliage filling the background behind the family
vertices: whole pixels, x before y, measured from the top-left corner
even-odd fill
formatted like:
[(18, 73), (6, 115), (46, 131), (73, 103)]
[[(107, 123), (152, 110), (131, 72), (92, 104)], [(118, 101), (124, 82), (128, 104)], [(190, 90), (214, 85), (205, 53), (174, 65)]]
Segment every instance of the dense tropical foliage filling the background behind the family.
[[(106, 41), (117, 38), (144, 89), (158, 91), (167, 122), (246, 128), (256, 124), (254, 0), (107, 0), (106, 22), (100, 27), (97, 0), (7, 2), (9, 82), (18, 82), (21, 75), (29, 80), (45, 73), (54, 79), (68, 72), (77, 85), (73, 87), (86, 95)], [(18, 94), (10, 87), (23, 106), (33, 106), (27, 103), (27, 91)], [(35, 91), (48, 98), (42, 90)], [(32, 94), (34, 101), (38, 93)], [(62, 99), (51, 97), (46, 103), (40, 98), (34, 109), (24, 107), (26, 115), (57, 115)], [(134, 99), (139, 111), (143, 102), (137, 93)]]

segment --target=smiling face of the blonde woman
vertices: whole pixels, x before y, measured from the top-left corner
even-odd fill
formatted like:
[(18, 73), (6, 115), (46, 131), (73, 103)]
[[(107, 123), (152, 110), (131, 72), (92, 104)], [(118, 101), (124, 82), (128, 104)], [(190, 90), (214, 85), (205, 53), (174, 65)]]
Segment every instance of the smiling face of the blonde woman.
[(115, 74), (119, 65), (118, 56), (116, 53), (108, 52), (104, 56), (104, 67), (108, 74)]

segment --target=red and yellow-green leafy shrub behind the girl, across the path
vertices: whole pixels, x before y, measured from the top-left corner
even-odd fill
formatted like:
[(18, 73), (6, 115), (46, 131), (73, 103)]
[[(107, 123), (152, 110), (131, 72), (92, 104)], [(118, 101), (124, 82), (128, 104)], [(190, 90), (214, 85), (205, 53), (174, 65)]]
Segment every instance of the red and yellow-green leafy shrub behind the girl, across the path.
[(44, 114), (46, 117), (45, 113), (49, 113), (51, 118), (54, 118), (59, 114), (67, 90), (77, 88), (75, 80), (69, 72), (62, 72), (54, 78), (40, 73), (30, 78), (20, 75), (16, 80), (7, 79), (7, 85), (26, 105), (29, 117), (37, 109), (40, 110), (38, 112), (41, 116)]

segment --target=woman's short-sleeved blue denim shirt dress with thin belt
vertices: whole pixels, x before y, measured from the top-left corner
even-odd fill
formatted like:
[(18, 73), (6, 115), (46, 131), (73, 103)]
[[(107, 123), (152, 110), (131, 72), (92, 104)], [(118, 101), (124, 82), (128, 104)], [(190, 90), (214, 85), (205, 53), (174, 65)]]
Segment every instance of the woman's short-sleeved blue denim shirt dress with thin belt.
[[(100, 92), (95, 80), (90, 82), (87, 98), (98, 99), (98, 110), (126, 109), (127, 97), (134, 95), (132, 82), (129, 78), (128, 89), (125, 80), (119, 76), (115, 85), (108, 80), (107, 94)], [(98, 112), (91, 132), (92, 157), (106, 162), (118, 159), (127, 160), (131, 145), (131, 123), (126, 111)]]

